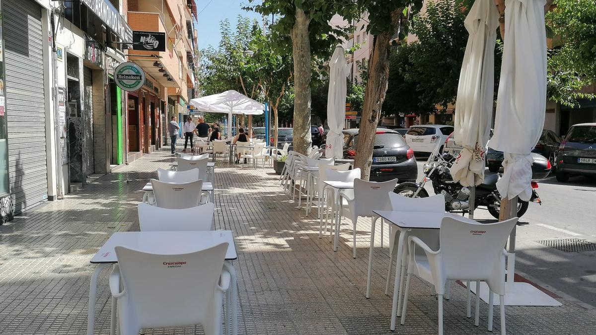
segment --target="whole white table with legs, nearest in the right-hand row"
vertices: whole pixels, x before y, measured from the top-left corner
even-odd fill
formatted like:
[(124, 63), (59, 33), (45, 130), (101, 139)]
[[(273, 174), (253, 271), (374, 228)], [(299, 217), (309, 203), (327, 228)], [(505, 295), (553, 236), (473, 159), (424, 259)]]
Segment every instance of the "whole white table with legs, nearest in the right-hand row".
[[(401, 315), (401, 289), (403, 284), (403, 278), (400, 278), (401, 267), (402, 267), (402, 256), (403, 246), (408, 232), (416, 229), (440, 229), (441, 222), (446, 216), (453, 216), (459, 220), (468, 221), (470, 223), (477, 224), (478, 222), (465, 218), (464, 216), (454, 215), (452, 213), (431, 213), (431, 212), (402, 212), (393, 210), (373, 210), (373, 213), (377, 214), (385, 221), (390, 222), (394, 229), (401, 229), (402, 234), (399, 234), (398, 243), (398, 255), (396, 256), (395, 265), (395, 282), (393, 283), (393, 305), (391, 311), (391, 330), (395, 330), (395, 320), (399, 314)], [(370, 297), (370, 286), (371, 286), (371, 272), (373, 266), (373, 247), (374, 247), (374, 230), (375, 221), (371, 226), (371, 244), (370, 252), (368, 255), (368, 277), (367, 277), (367, 298)], [(395, 242), (394, 242), (395, 243)], [(391, 252), (391, 251), (390, 251)], [(389, 283), (388, 283), (389, 284)], [(385, 294), (388, 294), (389, 286), (386, 287)], [(399, 301), (398, 301), (399, 297)]]

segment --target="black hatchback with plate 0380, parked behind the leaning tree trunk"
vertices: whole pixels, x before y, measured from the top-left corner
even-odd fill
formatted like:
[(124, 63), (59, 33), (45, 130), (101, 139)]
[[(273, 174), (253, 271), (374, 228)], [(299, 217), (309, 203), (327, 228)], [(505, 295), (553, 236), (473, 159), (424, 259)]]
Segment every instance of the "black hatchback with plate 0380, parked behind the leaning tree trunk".
[[(356, 156), (356, 142), (359, 129), (346, 129), (344, 135), (344, 157)], [(373, 165), (371, 181), (387, 181), (398, 178), (399, 182), (415, 181), (418, 167), (414, 151), (408, 147), (399, 132), (377, 128), (373, 141)]]

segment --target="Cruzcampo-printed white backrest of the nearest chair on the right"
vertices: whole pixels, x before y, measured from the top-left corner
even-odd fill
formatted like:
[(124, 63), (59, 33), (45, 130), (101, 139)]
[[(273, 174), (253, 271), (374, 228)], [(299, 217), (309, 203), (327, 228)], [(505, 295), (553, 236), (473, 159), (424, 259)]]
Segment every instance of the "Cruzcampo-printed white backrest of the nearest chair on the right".
[[(504, 274), (505, 269), (496, 265), (516, 223), (517, 218), (479, 224), (457, 216), (445, 216), (441, 221), (439, 243), (446, 278), (483, 280), (498, 278), (501, 271)], [(491, 283), (488, 284), (491, 286)], [(504, 294), (497, 291), (498, 287), (491, 286), (491, 290)]]

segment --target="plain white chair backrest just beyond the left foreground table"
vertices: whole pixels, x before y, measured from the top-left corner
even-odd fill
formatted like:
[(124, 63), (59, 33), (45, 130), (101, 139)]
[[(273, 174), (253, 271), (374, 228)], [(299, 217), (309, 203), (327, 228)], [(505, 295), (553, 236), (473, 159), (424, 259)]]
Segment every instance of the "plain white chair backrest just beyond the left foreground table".
[(206, 203), (186, 209), (167, 209), (139, 203), (141, 231), (213, 230), (215, 204)]

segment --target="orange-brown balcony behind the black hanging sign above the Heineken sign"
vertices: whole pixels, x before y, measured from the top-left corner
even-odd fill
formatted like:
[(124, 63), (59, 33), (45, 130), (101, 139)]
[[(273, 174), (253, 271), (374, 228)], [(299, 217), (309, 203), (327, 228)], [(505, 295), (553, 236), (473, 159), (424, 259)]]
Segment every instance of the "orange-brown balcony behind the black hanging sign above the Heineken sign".
[[(167, 29), (159, 13), (128, 12), (128, 24), (133, 30), (163, 32)], [(166, 36), (166, 51), (128, 50), (130, 60), (139, 64), (147, 75), (154, 77), (164, 87), (179, 88), (185, 86), (185, 78), (179, 75), (180, 60), (174, 49), (175, 42)], [(168, 77), (172, 80), (168, 80)]]

